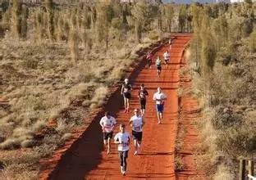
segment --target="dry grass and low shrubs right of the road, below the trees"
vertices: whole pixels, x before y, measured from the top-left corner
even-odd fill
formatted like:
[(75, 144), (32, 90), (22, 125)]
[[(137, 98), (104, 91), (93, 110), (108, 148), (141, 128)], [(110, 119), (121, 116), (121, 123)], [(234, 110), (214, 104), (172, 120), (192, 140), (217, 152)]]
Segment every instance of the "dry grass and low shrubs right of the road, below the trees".
[[(199, 124), (202, 143), (196, 159), (198, 168), (213, 179), (236, 178), (238, 157), (250, 157), (256, 151), (255, 53), (250, 52), (247, 40), (240, 40), (228, 64), (223, 61), (226, 48), (219, 50), (209, 79), (196, 70), (193, 74), (194, 96), (203, 108)], [(208, 82), (209, 96), (205, 96)]]

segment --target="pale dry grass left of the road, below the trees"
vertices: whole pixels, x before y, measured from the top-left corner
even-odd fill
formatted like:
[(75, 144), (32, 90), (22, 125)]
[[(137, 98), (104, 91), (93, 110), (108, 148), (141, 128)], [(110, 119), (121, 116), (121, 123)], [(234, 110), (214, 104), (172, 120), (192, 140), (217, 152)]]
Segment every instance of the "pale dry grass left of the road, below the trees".
[[(5, 168), (1, 177), (37, 178), (38, 160), (52, 155), (72, 137), (73, 129), (85, 123), (89, 110), (101, 106), (108, 88), (134, 65), (136, 51), (154, 41), (138, 45), (130, 42), (132, 39), (118, 51), (111, 48), (103, 52), (94, 44), (88, 53), (79, 47), (73, 63), (66, 43), (16, 42), (8, 34), (0, 39), (0, 78), (8, 79), (0, 85), (0, 97), (10, 101), (8, 108), (0, 107), (0, 148), (10, 152), (21, 147), (30, 150), (24, 152), (30, 158), (18, 163), (11, 160), (11, 153), (2, 154), (0, 161)], [(56, 123), (50, 124), (52, 120)], [(34, 168), (27, 168), (31, 163)]]

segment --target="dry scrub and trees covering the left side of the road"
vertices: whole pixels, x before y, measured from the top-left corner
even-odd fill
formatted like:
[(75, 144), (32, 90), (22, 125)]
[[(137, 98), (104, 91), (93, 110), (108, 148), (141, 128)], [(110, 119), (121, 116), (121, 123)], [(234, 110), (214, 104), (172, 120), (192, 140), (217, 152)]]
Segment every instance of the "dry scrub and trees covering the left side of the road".
[(141, 50), (177, 26), (171, 5), (37, 2), (0, 2), (1, 179), (37, 179), (39, 160), (89, 124)]

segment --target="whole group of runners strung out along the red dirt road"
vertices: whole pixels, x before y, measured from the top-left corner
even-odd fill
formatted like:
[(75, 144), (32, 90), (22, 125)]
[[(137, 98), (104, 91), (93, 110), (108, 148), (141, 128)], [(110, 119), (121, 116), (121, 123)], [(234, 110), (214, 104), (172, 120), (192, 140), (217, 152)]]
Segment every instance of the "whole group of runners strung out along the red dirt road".
[[(170, 46), (171, 46), (171, 43), (170, 43)], [(166, 65), (168, 65), (168, 61), (170, 60), (169, 53), (165, 52), (163, 57), (166, 62)], [(148, 60), (149, 68), (151, 68), (151, 64), (153, 60), (152, 52), (149, 52), (147, 56), (147, 60)], [(158, 61), (160, 61), (159, 64), (158, 64)], [(159, 76), (162, 70), (161, 59), (159, 58), (159, 56), (156, 60), (156, 65), (157, 65), (158, 76)], [(131, 98), (132, 90), (133, 89), (129, 82), (129, 79), (125, 79), (121, 87), (121, 95), (124, 97), (125, 113), (130, 112), (130, 98)], [(144, 84), (142, 83), (140, 85), (138, 96), (137, 96), (140, 104), (140, 110), (136, 108), (134, 110), (134, 115), (130, 118), (128, 122), (128, 124), (131, 127), (131, 134), (132, 134), (132, 138), (135, 146), (134, 155), (139, 154), (139, 150), (141, 147), (142, 135), (143, 135), (142, 132), (145, 124), (144, 114), (146, 110), (146, 102), (147, 102), (148, 96), (149, 96), (149, 92), (146, 90), (146, 88), (144, 87)], [(155, 101), (155, 104), (156, 104), (158, 124), (162, 123), (162, 118), (163, 118), (162, 114), (163, 114), (164, 104), (166, 100), (167, 100), (167, 96), (162, 92), (161, 88), (158, 87), (157, 92), (153, 94), (153, 101)], [(100, 120), (99, 124), (103, 130), (103, 143), (107, 148), (107, 154), (109, 154), (111, 152), (111, 139), (113, 138), (113, 129), (117, 124), (117, 120), (114, 117), (112, 117), (112, 115), (110, 115), (109, 112), (105, 112), (105, 115)], [(120, 159), (120, 170), (122, 175), (126, 175), (126, 167), (127, 167), (126, 159), (128, 157), (130, 140), (131, 140), (131, 137), (130, 137), (130, 133), (126, 131), (126, 124), (120, 124), (119, 133), (117, 133), (114, 136), (114, 143), (117, 144), (117, 151)]]

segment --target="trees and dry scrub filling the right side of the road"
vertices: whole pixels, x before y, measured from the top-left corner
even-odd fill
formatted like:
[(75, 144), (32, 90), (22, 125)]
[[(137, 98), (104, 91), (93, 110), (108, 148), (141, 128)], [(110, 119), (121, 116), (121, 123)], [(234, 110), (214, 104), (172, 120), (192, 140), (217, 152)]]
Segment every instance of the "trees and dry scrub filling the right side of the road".
[(213, 179), (238, 178), (238, 158), (256, 153), (255, 3), (192, 5), (194, 95), (203, 118), (199, 169)]

